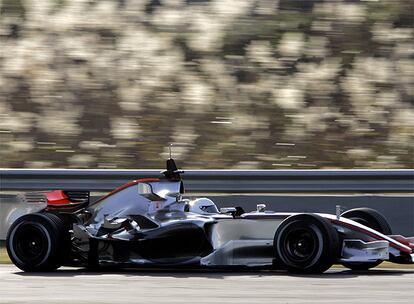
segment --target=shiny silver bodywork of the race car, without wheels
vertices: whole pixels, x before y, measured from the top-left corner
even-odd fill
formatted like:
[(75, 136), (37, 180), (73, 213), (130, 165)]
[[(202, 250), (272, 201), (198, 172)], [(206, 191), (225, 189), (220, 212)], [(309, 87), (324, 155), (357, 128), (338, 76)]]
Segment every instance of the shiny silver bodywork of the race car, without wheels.
[[(163, 261), (166, 264), (270, 266), (274, 263), (273, 239), (276, 230), (284, 220), (298, 213), (277, 213), (262, 210), (234, 217), (228, 214), (206, 216), (185, 212), (186, 201), (180, 198), (181, 183), (182, 181), (145, 182), (145, 184), (152, 187), (152, 193), (158, 196), (155, 201), (145, 199), (145, 197), (142, 200), (142, 195), (138, 194), (140, 183), (132, 184), (120, 192), (104, 198), (89, 208), (89, 212), (93, 216), (87, 223), (79, 225), (79, 227), (85, 229), (78, 228), (75, 230), (75, 240), (84, 240), (84, 244), (88, 244), (85, 240), (89, 238), (103, 241), (108, 239), (138, 240), (135, 236), (148, 229), (141, 227), (139, 223), (134, 223), (130, 219), (127, 220), (127, 218), (131, 214), (143, 212), (145, 217), (154, 223), (158, 223), (160, 227), (168, 228), (174, 225), (191, 223), (205, 231), (206, 238), (211, 245), (208, 254), (178, 261), (173, 259), (168, 261), (166, 259)], [(138, 203), (138, 201), (141, 201), (141, 203)], [(341, 255), (337, 262), (372, 262), (388, 260), (390, 254), (394, 258), (400, 256), (401, 253), (412, 254), (412, 248), (409, 246), (360, 223), (343, 217), (338, 219), (331, 214), (319, 213), (317, 215), (329, 220), (338, 233), (343, 236), (341, 239)], [(116, 230), (123, 221), (129, 221), (133, 228), (129, 231), (127, 229)], [(109, 229), (109, 233), (99, 235), (97, 232), (102, 227)], [(156, 230), (159, 227), (151, 229)], [(79, 231), (83, 231), (83, 233)], [(84, 251), (88, 250), (89, 248), (86, 246)], [(102, 261), (105, 260), (105, 263), (118, 263), (118, 261), (111, 259), (111, 253), (103, 251), (103, 256), (105, 256), (105, 259), (102, 259)], [(140, 265), (157, 263), (153, 259), (136, 255), (131, 256), (128, 261), (123, 261), (123, 263), (125, 262)]]

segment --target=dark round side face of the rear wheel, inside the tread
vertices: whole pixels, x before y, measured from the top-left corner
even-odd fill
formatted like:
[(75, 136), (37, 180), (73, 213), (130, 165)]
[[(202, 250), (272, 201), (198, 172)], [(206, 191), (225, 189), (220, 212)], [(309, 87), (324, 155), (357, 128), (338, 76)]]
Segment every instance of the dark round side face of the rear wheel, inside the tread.
[(23, 263), (40, 264), (50, 251), (45, 227), (35, 222), (21, 223), (12, 234), (13, 256)]

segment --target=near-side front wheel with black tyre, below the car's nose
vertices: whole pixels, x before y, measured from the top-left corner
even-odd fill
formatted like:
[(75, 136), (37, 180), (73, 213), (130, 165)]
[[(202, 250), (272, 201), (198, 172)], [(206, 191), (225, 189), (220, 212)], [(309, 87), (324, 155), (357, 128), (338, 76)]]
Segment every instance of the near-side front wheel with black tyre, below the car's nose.
[(331, 223), (316, 214), (287, 218), (273, 240), (276, 263), (289, 271), (322, 273), (339, 256), (339, 237)]

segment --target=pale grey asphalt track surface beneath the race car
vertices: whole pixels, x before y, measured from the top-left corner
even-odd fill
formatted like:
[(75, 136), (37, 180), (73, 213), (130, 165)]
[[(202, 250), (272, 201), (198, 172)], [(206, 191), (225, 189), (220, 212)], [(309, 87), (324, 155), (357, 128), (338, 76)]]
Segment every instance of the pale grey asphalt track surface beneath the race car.
[(0, 303), (413, 303), (414, 270), (283, 271), (62, 268), (24, 273), (0, 265)]

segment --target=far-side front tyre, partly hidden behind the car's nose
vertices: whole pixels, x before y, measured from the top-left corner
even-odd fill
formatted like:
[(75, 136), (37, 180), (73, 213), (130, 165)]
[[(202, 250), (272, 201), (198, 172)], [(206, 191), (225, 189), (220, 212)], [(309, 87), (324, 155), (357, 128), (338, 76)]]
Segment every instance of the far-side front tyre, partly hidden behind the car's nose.
[[(378, 211), (371, 208), (355, 208), (345, 211), (341, 214), (342, 217), (353, 220), (369, 228), (375, 229), (382, 234), (390, 235), (392, 230), (386, 218)], [(382, 261), (375, 261), (369, 263), (342, 263), (345, 267), (352, 270), (368, 270), (381, 264)]]

